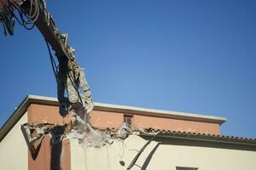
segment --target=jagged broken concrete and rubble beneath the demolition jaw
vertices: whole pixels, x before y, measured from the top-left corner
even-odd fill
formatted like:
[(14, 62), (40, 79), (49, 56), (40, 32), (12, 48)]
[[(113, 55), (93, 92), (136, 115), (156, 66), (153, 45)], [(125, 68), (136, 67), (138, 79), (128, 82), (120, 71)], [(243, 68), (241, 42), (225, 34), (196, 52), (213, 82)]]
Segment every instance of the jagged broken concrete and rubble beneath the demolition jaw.
[(72, 120), (68, 124), (55, 125), (41, 123), (21, 125), (26, 144), (33, 154), (34, 143), (42, 140), (45, 135), (51, 137), (52, 144), (60, 143), (63, 139), (78, 139), (83, 147), (102, 147), (113, 144), (114, 140), (124, 140), (131, 134), (131, 128), (124, 122), (117, 132), (109, 129), (95, 129), (91, 127), (87, 114), (72, 113)]

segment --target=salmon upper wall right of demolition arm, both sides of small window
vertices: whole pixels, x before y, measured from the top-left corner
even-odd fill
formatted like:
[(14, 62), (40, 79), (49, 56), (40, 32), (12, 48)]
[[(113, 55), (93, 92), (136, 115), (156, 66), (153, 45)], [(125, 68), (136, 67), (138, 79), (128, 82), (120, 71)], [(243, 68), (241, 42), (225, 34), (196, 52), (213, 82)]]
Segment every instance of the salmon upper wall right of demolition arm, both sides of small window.
[[(126, 113), (125, 113), (126, 114)], [(90, 123), (93, 127), (114, 127), (119, 128), (124, 119), (123, 113), (108, 111), (92, 111)], [(211, 122), (195, 122), (162, 118), (155, 116), (132, 116), (132, 127), (137, 128), (156, 128), (175, 131), (186, 131), (192, 133), (212, 133), (220, 134), (219, 124)]]

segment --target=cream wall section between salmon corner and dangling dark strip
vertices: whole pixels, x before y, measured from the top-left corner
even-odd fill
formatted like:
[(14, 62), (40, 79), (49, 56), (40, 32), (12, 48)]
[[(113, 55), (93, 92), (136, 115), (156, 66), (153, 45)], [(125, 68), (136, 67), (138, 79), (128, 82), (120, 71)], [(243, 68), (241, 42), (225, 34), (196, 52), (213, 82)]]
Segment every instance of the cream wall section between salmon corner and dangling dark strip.
[[(104, 147), (83, 147), (77, 140), (70, 140), (71, 169), (72, 170), (126, 170), (133, 158), (137, 155), (148, 140), (137, 135), (130, 135), (125, 140), (114, 140), (113, 144)], [(137, 160), (142, 165), (154, 149), (157, 142), (152, 141)], [(132, 169), (137, 168), (135, 165)]]

